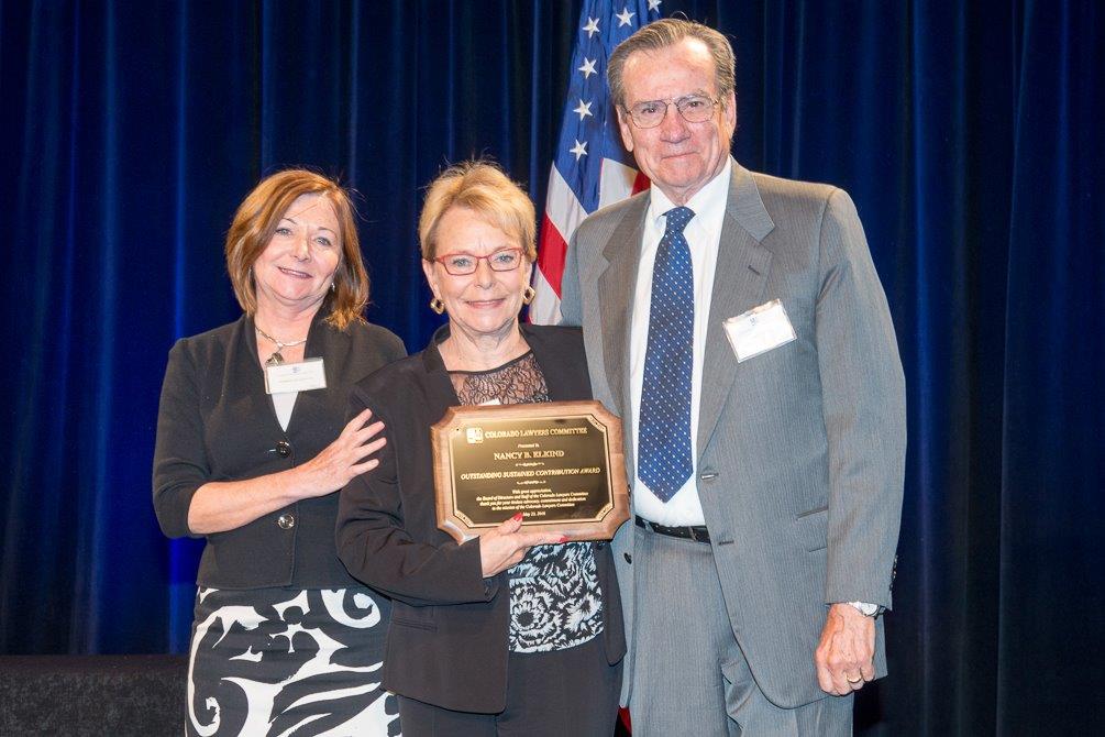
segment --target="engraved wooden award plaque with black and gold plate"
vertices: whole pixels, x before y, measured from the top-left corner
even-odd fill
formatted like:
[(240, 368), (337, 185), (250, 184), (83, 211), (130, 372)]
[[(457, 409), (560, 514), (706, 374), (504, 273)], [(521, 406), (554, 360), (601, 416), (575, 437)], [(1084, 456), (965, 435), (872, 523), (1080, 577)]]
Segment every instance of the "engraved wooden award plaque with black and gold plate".
[(519, 512), (569, 540), (629, 519), (621, 421), (600, 402), (453, 407), (430, 432), (438, 527), (457, 543)]

